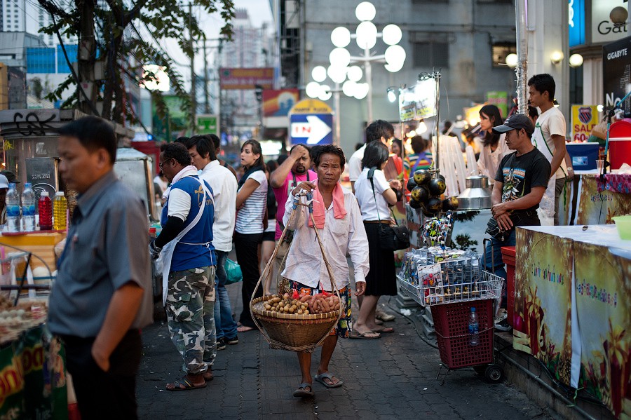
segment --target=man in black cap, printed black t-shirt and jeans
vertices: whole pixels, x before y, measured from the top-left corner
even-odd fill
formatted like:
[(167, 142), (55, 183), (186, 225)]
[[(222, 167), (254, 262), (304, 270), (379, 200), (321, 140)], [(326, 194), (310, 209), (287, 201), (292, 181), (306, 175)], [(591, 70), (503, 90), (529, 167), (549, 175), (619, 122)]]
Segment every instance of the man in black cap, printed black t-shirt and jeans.
[[(515, 152), (502, 158), (495, 175), (491, 194), (493, 217), (487, 227), (491, 244), (487, 243), (484, 267), (487, 269), (494, 264), (489, 271), (506, 279), (501, 247), (515, 246), (516, 226), (541, 224), (536, 210), (548, 187), (550, 163), (531, 142), (534, 127), (528, 116), (510, 116), (501, 126), (494, 127), (493, 131), (506, 133), (506, 145)], [(506, 305), (505, 299), (503, 304)]]

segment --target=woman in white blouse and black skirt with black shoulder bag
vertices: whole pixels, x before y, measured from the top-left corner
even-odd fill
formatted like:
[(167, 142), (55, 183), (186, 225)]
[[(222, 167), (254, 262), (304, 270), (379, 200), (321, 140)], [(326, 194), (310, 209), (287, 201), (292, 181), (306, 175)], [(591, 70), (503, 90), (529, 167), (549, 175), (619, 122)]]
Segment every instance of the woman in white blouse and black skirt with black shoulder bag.
[[(355, 182), (355, 196), (362, 211), (362, 220), (368, 238), (368, 257), (370, 270), (366, 276), (366, 292), (360, 308), (358, 320), (353, 326), (351, 338), (376, 339), (381, 332), (393, 332), (393, 328), (377, 325), (374, 311), (379, 297), (395, 296), (397, 283), (395, 277), (394, 253), (381, 250), (379, 245), (380, 224), (391, 223), (388, 205), (397, 203), (394, 189), (400, 189), (398, 179), (386, 181), (384, 166), (388, 162), (388, 147), (381, 142), (366, 145), (362, 159), (362, 174)], [(372, 170), (372, 182), (369, 172)]]

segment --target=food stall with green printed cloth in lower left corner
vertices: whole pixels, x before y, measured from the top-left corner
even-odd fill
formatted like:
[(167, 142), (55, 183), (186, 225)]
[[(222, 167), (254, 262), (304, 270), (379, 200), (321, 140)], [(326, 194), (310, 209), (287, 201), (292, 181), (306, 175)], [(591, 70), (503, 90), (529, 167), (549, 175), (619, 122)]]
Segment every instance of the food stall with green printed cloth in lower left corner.
[[(52, 276), (48, 263), (28, 250), (2, 243), (23, 243), (36, 233), (0, 238), (0, 418), (67, 419), (68, 397), (64, 351), (60, 339), (46, 329), (48, 292)], [(48, 245), (32, 245), (53, 255), (55, 235)], [(40, 242), (41, 242), (41, 238)], [(28, 242), (28, 241), (27, 241)], [(35, 241), (37, 242), (37, 241)], [(25, 245), (29, 248), (28, 244)], [(46, 257), (46, 255), (44, 257)], [(54, 264), (54, 255), (53, 255)], [(47, 276), (34, 277), (31, 266)], [(54, 267), (54, 265), (53, 265)], [(37, 271), (35, 271), (37, 273)], [(28, 277), (28, 281), (27, 281)], [(34, 280), (37, 283), (34, 283)], [(26, 290), (25, 292), (22, 292)], [(37, 294), (35, 292), (38, 292)]]

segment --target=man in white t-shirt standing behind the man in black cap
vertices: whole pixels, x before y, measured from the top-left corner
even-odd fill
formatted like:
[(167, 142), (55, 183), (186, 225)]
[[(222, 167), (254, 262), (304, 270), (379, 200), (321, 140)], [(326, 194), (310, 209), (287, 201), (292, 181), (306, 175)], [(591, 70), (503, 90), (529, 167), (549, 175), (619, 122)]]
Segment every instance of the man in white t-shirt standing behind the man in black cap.
[[(550, 74), (535, 74), (528, 81), (529, 102), (531, 106), (541, 110), (532, 135), (532, 142), (548, 159), (552, 168), (550, 184), (541, 201), (541, 211), (548, 217), (554, 212), (556, 226), (559, 224), (559, 196), (565, 188), (566, 179), (571, 179), (569, 175), (573, 177), (574, 171), (565, 163), (566, 125), (563, 114), (554, 104), (555, 88), (555, 79), (552, 79)], [(571, 172), (568, 173), (569, 171)], [(546, 200), (546, 197), (549, 199)]]

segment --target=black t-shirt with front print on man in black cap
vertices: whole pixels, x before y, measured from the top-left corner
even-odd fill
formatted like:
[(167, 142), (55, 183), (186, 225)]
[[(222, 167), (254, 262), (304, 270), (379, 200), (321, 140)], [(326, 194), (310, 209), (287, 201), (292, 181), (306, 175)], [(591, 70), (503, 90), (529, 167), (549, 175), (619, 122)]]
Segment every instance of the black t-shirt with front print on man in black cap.
[[(548, 187), (550, 179), (550, 163), (538, 149), (517, 156), (517, 151), (506, 155), (495, 175), (497, 182), (502, 182), (502, 203), (514, 201), (530, 193), (532, 187)], [(539, 203), (531, 208), (515, 210), (536, 210)]]

